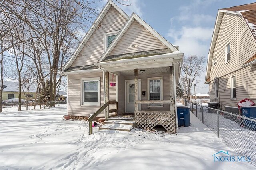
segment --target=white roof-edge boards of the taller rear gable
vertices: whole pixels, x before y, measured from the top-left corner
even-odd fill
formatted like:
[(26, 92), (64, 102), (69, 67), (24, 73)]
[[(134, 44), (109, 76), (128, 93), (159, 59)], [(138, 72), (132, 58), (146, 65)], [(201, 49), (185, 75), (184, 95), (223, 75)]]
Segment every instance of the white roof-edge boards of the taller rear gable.
[(64, 70), (67, 70), (68, 68), (70, 68), (70, 66), (74, 63), (74, 61), (76, 60), (79, 53), (82, 51), (82, 49), (84, 48), (84, 46), (86, 45), (86, 43), (88, 42), (88, 40), (90, 39), (90, 37), (92, 36), (94, 31), (98, 27), (100, 22), (103, 20), (104, 16), (108, 13), (108, 10), (110, 9), (111, 6), (113, 6), (120, 14), (122, 14), (122, 16), (124, 16), (124, 18), (126, 18), (127, 20), (129, 19), (129, 16), (123, 10), (121, 10), (121, 8), (119, 8), (112, 0), (108, 0), (107, 4), (102, 9), (99, 16), (94, 21), (92, 27), (90, 27), (89, 31), (84, 36), (82, 42), (80, 43), (80, 45), (76, 49), (75, 53), (72, 55), (72, 57), (70, 58), (70, 60), (66, 64)]

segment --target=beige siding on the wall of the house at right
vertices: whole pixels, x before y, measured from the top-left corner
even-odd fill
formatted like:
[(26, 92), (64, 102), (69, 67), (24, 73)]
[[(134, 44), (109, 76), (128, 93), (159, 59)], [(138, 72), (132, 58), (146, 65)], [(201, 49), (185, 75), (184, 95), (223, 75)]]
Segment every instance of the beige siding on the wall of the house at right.
[[(230, 43), (230, 62), (225, 63), (225, 46)], [(237, 107), (244, 98), (256, 101), (256, 65), (242, 65), (256, 53), (256, 41), (240, 15), (224, 13), (216, 40), (213, 58), (216, 65), (210, 72), (210, 97), (215, 97), (214, 82), (218, 78), (220, 108)], [(236, 99), (231, 98), (230, 77), (236, 76)]]

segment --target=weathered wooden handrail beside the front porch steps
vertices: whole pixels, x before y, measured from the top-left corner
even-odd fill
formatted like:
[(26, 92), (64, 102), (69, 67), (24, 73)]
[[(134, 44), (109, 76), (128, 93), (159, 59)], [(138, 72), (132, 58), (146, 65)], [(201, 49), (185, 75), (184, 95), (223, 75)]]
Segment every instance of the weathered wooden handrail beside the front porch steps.
[(89, 135), (92, 134), (92, 120), (95, 119), (104, 109), (106, 109), (106, 107), (108, 107), (110, 104), (116, 104), (116, 109), (111, 109), (109, 111), (109, 113), (113, 113), (116, 112), (117, 114), (117, 110), (118, 110), (118, 102), (116, 100), (110, 100), (108, 102), (106, 102), (103, 106), (100, 107), (100, 109), (98, 109), (94, 114), (92, 114), (89, 118)]

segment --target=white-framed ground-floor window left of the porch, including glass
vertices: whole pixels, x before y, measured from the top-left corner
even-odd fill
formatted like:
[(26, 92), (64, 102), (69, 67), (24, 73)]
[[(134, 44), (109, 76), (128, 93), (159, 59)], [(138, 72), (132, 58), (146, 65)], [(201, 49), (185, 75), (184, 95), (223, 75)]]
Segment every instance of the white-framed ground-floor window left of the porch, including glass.
[(82, 105), (100, 106), (100, 77), (82, 79)]

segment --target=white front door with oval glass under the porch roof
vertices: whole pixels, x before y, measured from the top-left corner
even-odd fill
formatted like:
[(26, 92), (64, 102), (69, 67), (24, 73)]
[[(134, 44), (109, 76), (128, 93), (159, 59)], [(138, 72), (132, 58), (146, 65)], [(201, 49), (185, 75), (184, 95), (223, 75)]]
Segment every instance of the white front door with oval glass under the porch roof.
[[(139, 100), (140, 100), (140, 82), (139, 82)], [(126, 82), (126, 112), (131, 113), (134, 112), (134, 92), (135, 85), (134, 82)]]

